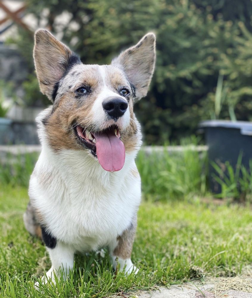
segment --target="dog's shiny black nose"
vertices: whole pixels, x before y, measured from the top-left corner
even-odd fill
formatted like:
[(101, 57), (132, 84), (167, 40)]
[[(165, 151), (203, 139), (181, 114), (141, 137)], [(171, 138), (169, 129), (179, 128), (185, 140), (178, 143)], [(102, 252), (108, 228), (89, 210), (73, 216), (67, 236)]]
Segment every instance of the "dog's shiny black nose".
[(102, 107), (109, 116), (117, 120), (126, 112), (128, 103), (120, 97), (112, 97), (104, 100)]

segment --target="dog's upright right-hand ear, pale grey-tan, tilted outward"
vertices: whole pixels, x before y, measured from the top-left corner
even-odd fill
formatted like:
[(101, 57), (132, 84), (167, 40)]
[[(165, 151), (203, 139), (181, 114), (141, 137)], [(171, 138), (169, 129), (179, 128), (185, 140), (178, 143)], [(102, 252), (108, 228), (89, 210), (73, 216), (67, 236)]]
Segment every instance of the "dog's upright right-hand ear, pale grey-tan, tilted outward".
[(155, 58), (155, 34), (148, 33), (135, 46), (125, 50), (112, 61), (112, 65), (123, 68), (136, 89), (136, 99), (147, 94)]

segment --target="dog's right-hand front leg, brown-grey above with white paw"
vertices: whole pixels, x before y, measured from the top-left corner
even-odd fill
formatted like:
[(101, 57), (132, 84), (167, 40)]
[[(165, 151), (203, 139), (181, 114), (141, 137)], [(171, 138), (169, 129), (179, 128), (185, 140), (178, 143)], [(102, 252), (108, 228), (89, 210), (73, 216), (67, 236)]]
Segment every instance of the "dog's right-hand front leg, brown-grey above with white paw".
[(136, 216), (133, 218), (130, 226), (116, 239), (111, 241), (109, 245), (110, 256), (112, 259), (114, 270), (125, 271), (131, 273), (139, 271), (131, 261), (131, 252), (136, 233)]

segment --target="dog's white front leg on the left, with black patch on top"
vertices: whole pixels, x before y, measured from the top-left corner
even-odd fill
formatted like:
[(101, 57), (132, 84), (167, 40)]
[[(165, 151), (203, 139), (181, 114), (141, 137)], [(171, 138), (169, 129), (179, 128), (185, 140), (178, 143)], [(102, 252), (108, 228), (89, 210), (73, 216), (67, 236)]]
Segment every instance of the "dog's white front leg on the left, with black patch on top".
[[(49, 280), (55, 283), (55, 276), (58, 278), (63, 273), (63, 277), (66, 278), (69, 270), (73, 268), (74, 250), (71, 246), (43, 231), (43, 228), (42, 236), (52, 263), (52, 267), (42, 277), (42, 283), (46, 284)], [(38, 288), (39, 283), (36, 283), (35, 286)]]

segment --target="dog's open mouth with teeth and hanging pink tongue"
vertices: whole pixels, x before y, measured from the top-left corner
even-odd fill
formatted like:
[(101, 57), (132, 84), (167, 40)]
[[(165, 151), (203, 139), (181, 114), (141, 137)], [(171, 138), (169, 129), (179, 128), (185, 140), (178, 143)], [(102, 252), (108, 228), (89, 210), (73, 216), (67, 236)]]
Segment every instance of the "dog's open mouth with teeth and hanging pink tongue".
[(79, 142), (91, 150), (104, 170), (115, 172), (122, 169), (125, 162), (125, 148), (117, 126), (92, 132), (77, 125), (74, 127), (74, 131)]

